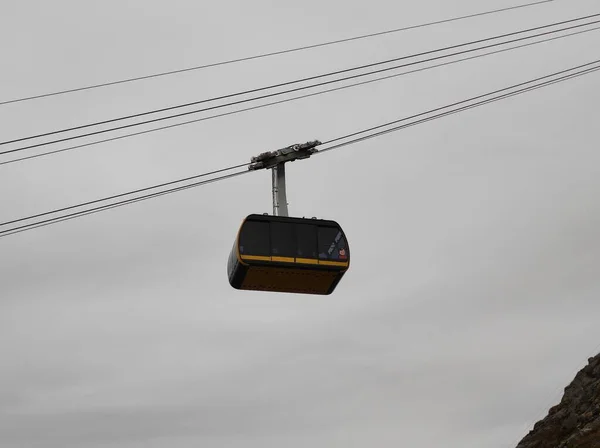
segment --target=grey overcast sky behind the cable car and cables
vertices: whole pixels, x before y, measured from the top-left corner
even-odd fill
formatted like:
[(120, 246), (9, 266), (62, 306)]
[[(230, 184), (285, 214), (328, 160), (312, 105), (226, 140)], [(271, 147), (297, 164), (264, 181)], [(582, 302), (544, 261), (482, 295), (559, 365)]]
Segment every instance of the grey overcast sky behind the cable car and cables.
[[(517, 0), (0, 0), (0, 100)], [(542, 6), (0, 107), (0, 138), (600, 12)], [(598, 58), (600, 31), (0, 167), (0, 221), (327, 140)], [(600, 350), (600, 74), (288, 168), (327, 297), (240, 292), (253, 173), (0, 239), (0, 446), (514, 447)]]

